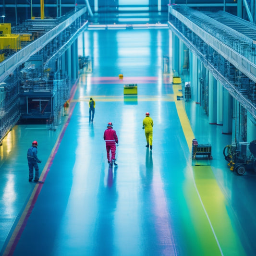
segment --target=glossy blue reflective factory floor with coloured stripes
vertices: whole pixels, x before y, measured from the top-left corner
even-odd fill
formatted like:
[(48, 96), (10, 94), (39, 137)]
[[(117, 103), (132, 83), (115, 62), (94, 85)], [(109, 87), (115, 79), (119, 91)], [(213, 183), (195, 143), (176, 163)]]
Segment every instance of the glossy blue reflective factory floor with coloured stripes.
[[(55, 132), (17, 125), (0, 147), (1, 255), (255, 255), (255, 175), (229, 171), (222, 151), (231, 136), (209, 125), (195, 102), (176, 100), (180, 85), (161, 72), (170, 33), (85, 32), (93, 72), (81, 74), (64, 125)], [(138, 96), (124, 98), (131, 83)], [(142, 130), (147, 111), (152, 151)], [(103, 140), (108, 122), (119, 137), (112, 169)], [(211, 143), (210, 165), (192, 166), (195, 137)], [(35, 139), (43, 184), (28, 182), (26, 152)]]

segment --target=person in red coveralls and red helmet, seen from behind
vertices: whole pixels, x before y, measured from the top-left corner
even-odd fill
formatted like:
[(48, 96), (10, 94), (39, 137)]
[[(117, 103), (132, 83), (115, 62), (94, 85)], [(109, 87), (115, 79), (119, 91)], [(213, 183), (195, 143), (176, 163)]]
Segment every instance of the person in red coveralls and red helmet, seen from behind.
[[(113, 130), (113, 124), (111, 122), (107, 125), (107, 130), (104, 132), (104, 140), (106, 142), (107, 149), (107, 158), (110, 166), (117, 165), (116, 161), (116, 146), (118, 146), (118, 137), (116, 135), (116, 131)], [(116, 145), (117, 144), (117, 145)], [(111, 150), (111, 158), (110, 158), (110, 150)]]

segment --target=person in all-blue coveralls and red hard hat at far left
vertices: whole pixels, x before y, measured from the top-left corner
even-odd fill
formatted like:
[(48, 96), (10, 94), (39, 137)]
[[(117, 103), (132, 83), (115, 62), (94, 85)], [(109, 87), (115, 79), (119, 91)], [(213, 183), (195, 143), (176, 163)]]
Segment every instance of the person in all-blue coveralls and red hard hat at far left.
[(29, 178), (28, 181), (32, 182), (33, 180), (33, 172), (35, 168), (35, 179), (34, 182), (38, 182), (39, 180), (39, 168), (37, 163), (41, 163), (42, 161), (37, 158), (37, 141), (32, 142), (32, 146), (27, 150), (27, 162), (28, 162), (28, 170), (29, 170)]

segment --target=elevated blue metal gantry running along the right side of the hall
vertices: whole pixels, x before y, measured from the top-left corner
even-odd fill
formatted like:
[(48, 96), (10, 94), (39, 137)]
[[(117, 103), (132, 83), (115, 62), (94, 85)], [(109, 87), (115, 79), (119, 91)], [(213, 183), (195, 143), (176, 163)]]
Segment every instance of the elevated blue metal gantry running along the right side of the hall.
[(232, 14), (169, 7), (169, 27), (256, 118), (256, 25)]

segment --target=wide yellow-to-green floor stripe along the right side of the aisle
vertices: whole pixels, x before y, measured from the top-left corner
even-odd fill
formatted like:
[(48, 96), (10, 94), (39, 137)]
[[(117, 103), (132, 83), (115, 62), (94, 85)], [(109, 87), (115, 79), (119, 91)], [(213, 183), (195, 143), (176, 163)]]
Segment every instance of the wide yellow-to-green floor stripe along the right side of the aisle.
[[(181, 94), (179, 90), (181, 90), (181, 85), (173, 85), (174, 96)], [(192, 139), (195, 136), (184, 109), (184, 101), (176, 100), (175, 104), (191, 155)], [(245, 256), (244, 248), (227, 212), (227, 200), (219, 188), (211, 167), (193, 166), (192, 170), (195, 189), (207, 215), (212, 232), (215, 235), (219, 246), (219, 253), (221, 255)], [(188, 193), (188, 196), (191, 196), (191, 191)], [(191, 197), (188, 200), (190, 199)], [(194, 213), (191, 212), (194, 215), (193, 218), (198, 218), (198, 209), (192, 211), (196, 211)], [(202, 232), (202, 230), (199, 231)]]

